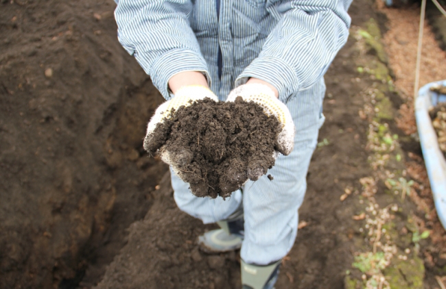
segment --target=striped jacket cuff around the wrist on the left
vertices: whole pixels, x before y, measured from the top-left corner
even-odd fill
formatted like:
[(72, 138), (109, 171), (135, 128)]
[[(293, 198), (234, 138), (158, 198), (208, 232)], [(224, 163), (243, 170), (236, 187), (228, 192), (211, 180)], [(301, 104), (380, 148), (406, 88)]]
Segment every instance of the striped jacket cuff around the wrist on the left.
[(161, 55), (152, 64), (148, 66), (149, 60), (144, 53), (135, 55), (139, 64), (144, 68), (145, 73), (150, 75), (152, 83), (158, 88), (161, 95), (166, 100), (173, 97), (169, 90), (169, 79), (177, 73), (183, 71), (200, 71), (206, 77), (209, 87), (211, 87), (211, 76), (207, 69), (204, 58), (195, 51), (189, 49), (173, 49)]

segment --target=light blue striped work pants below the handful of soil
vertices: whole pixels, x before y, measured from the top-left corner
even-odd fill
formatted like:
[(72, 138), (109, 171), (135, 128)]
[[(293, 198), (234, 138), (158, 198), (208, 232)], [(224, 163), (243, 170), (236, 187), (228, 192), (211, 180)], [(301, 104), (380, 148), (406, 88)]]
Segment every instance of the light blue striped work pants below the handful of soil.
[[(245, 238), (240, 251), (249, 264), (266, 265), (284, 257), (292, 248), (297, 234), (298, 208), (307, 189), (307, 171), (316, 148), (318, 131), (325, 118), (322, 100), (325, 83), (321, 78), (311, 88), (298, 92), (287, 101), (296, 137), (290, 155), (280, 155), (276, 164), (257, 181), (248, 181), (231, 197), (195, 197), (189, 184), (172, 173), (174, 199), (178, 208), (200, 218), (204, 224), (224, 220), (238, 207), (243, 198)], [(172, 172), (172, 171), (171, 171)]]

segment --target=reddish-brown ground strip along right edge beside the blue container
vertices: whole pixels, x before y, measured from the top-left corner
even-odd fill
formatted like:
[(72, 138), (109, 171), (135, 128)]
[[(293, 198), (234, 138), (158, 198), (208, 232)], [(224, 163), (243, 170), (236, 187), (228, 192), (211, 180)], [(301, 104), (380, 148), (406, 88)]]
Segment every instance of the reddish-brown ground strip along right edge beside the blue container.
[[(419, 3), (407, 5), (403, 9), (385, 8), (377, 2), (379, 12), (388, 17), (388, 33), (383, 36), (384, 48), (389, 56), (388, 64), (395, 75), (395, 86), (401, 96), (402, 104), (396, 119), (397, 127), (403, 135), (416, 140), (414, 118), (414, 70), (416, 67), (416, 47), (419, 36)], [(440, 1), (443, 8), (445, 2)], [(423, 28), (423, 46), (421, 50), (420, 85), (446, 79), (443, 69), (446, 65), (446, 20), (434, 3), (427, 1), (426, 20)], [(443, 50), (442, 50), (443, 49)], [(410, 197), (416, 204), (416, 223), (420, 228), (429, 229), (430, 242), (421, 250), (425, 265), (425, 288), (444, 288), (446, 284), (446, 234), (438, 221), (429, 180), (424, 162), (419, 152), (418, 142), (403, 142), (403, 149), (408, 151), (406, 169), (414, 180)]]

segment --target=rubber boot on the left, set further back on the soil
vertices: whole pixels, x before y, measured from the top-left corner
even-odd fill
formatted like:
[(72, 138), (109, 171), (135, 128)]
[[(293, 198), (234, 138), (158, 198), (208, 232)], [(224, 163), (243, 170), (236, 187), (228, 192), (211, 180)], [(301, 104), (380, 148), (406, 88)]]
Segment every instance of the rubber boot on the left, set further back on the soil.
[(218, 221), (215, 229), (198, 237), (200, 249), (207, 253), (220, 253), (240, 249), (244, 238), (243, 204), (226, 220)]

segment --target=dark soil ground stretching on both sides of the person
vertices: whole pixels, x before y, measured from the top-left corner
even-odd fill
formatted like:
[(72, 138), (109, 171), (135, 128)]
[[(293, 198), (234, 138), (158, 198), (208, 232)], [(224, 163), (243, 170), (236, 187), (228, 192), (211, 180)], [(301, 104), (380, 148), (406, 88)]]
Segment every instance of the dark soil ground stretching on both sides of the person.
[[(145, 124), (163, 99), (117, 42), (114, 7), (111, 0), (0, 2), (0, 288), (240, 288), (238, 252), (199, 251), (196, 238), (215, 225), (176, 208), (167, 166), (143, 152)], [(410, 116), (412, 82), (404, 77), (413, 68), (399, 73), (392, 55), (406, 57), (416, 42), (401, 32), (416, 25), (416, 6), (383, 10), (370, 0), (353, 1), (349, 10), (352, 36), (325, 77), (327, 121), (278, 289), (361, 288), (364, 277), (372, 280), (352, 264), (361, 252), (381, 248), (364, 230), (375, 208), (389, 203), (397, 208), (388, 239), (399, 252), (393, 260), (402, 263), (383, 271), (387, 280), (403, 284), (393, 288), (441, 288), (444, 229), (419, 144), (408, 136), (416, 129), (398, 127), (394, 117)], [(395, 28), (394, 16), (402, 27)], [(368, 39), (360, 27), (371, 18), (388, 58), (373, 43), (358, 49), (357, 35)], [(363, 72), (368, 66), (373, 73)], [(387, 66), (394, 79), (383, 78)], [(391, 80), (397, 91), (381, 87)], [(381, 88), (388, 107), (373, 107)], [(403, 113), (389, 116), (397, 110)], [(387, 166), (375, 160), (370, 138), (378, 118), (385, 123), (377, 133), (391, 130), (383, 140), (401, 140)], [(416, 181), (409, 197), (379, 179), (382, 167)], [(419, 237), (423, 230), (429, 238)], [(416, 270), (408, 273), (404, 264)], [(411, 279), (419, 274), (421, 285)]]

